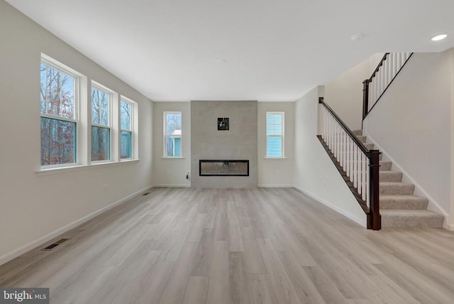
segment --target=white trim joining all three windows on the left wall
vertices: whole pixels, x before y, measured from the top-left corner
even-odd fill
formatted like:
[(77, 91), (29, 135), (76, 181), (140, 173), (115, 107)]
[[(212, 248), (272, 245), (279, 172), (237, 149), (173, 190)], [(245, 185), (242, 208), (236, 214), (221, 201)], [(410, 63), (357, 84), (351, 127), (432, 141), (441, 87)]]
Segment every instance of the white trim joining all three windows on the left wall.
[[(89, 168), (92, 165), (109, 165), (112, 163), (128, 163), (139, 161), (139, 126), (138, 103), (118, 92), (89, 79), (87, 76), (73, 70), (71, 67), (41, 53), (40, 63), (65, 73), (74, 78), (74, 117), (66, 118), (40, 112), (40, 117), (69, 121), (74, 125), (74, 163), (55, 165), (40, 165), (37, 163), (35, 172), (38, 175), (64, 173), (70, 170)], [(106, 92), (109, 95), (109, 126), (92, 124), (92, 87)], [(40, 97), (38, 97), (40, 98)], [(131, 130), (121, 129), (120, 105), (121, 102), (131, 105)], [(92, 126), (108, 128), (110, 130), (110, 158), (103, 161), (92, 161)], [(121, 131), (131, 132), (131, 158), (121, 158)]]

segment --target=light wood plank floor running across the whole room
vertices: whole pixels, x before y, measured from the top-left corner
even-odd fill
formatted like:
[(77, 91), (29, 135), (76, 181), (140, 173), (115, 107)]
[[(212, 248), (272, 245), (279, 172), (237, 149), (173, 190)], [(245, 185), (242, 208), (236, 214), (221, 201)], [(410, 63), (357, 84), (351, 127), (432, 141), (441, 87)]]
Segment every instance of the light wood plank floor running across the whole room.
[(454, 303), (454, 233), (368, 231), (294, 189), (155, 188), (0, 266), (51, 303)]

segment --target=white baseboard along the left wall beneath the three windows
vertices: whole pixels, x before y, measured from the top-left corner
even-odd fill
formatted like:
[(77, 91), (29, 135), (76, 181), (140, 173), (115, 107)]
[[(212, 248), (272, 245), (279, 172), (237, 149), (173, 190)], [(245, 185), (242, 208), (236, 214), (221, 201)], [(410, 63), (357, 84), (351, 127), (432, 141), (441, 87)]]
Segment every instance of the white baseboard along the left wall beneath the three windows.
[(95, 212), (92, 212), (89, 215), (86, 215), (80, 219), (77, 219), (76, 221), (74, 221), (70, 224), (67, 224), (64, 227), (61, 227), (53, 232), (50, 232), (50, 234), (46, 234), (45, 236), (40, 237), (39, 239), (36, 239), (35, 241), (32, 241), (31, 243), (28, 243), (25, 246), (22, 246), (18, 249), (15, 249), (15, 250), (9, 252), (8, 254), (4, 254), (3, 256), (0, 256), (0, 265), (5, 264), (6, 262), (11, 261), (12, 259), (16, 259), (16, 257), (20, 256), (21, 254), (25, 254), (27, 251), (30, 251), (31, 249), (34, 249), (40, 245), (43, 245), (46, 242), (50, 241), (51, 239), (55, 239), (55, 237), (58, 237), (60, 234), (64, 234), (65, 232), (69, 231), (70, 229), (73, 229), (73, 228), (79, 226), (80, 224), (83, 224), (84, 222), (87, 222), (90, 219), (92, 219), (98, 215), (101, 215), (101, 213), (111, 210), (112, 208), (123, 204), (123, 202), (131, 200), (131, 198), (133, 198), (137, 195), (140, 195), (143, 192), (147, 192), (151, 188), (153, 188), (153, 186), (143, 188), (142, 190), (138, 190), (137, 192), (134, 192), (133, 194), (128, 195), (127, 197), (124, 197), (123, 199), (118, 200), (118, 201), (112, 203), (111, 205), (102, 207), (101, 209), (96, 210)]

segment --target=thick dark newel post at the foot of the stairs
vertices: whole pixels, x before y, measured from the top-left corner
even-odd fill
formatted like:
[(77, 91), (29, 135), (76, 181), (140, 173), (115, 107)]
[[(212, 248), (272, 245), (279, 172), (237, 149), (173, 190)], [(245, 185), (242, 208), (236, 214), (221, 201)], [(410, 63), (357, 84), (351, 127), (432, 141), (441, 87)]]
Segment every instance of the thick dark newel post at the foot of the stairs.
[(367, 228), (380, 230), (382, 229), (382, 216), (380, 215), (380, 151), (370, 150), (369, 152), (370, 218), (367, 220)]

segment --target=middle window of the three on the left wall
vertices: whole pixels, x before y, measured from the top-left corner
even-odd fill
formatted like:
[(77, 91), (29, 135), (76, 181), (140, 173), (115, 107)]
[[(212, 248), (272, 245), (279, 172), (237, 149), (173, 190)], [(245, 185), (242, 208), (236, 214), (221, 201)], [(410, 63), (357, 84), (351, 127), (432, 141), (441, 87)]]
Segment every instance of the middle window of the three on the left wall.
[(92, 83), (92, 161), (111, 159), (111, 93)]

